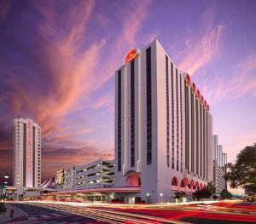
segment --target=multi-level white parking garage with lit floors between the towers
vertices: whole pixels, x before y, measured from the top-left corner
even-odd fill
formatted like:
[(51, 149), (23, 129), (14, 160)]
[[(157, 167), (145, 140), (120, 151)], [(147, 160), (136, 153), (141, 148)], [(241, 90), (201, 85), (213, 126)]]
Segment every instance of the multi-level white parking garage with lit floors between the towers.
[[(64, 171), (64, 180), (61, 175)], [(114, 165), (112, 162), (99, 159), (79, 167), (70, 166), (67, 170), (57, 172), (59, 191), (74, 191), (90, 188), (113, 187)]]

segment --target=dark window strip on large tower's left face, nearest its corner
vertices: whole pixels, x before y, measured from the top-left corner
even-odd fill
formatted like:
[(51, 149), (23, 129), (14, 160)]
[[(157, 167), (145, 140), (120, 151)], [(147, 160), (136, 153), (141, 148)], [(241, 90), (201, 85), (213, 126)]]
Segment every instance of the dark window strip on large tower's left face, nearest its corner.
[(147, 71), (147, 164), (152, 164), (152, 94), (151, 94), (151, 48), (146, 51)]

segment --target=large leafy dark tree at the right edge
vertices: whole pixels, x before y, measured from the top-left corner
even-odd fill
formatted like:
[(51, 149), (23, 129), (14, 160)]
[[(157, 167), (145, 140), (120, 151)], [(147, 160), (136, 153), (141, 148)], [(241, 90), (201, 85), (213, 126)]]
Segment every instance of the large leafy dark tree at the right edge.
[(256, 198), (256, 143), (246, 146), (236, 157), (236, 164), (228, 164), (226, 180), (230, 187), (243, 187)]

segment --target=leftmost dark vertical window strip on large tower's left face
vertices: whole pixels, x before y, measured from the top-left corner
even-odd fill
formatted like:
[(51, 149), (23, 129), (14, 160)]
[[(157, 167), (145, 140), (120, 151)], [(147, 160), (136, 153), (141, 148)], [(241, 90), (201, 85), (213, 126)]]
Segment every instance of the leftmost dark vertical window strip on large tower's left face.
[(118, 72), (118, 171), (121, 171), (122, 166), (122, 157), (121, 157), (121, 150), (122, 150), (122, 133), (121, 133), (121, 93), (122, 93), (122, 72), (119, 70)]

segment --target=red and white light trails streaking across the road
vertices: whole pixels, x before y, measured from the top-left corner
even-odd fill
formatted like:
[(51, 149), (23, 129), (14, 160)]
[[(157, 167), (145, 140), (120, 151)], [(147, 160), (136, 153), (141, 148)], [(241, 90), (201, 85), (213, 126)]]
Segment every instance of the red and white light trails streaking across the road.
[[(214, 204), (83, 204), (62, 202), (22, 202), (50, 210), (80, 215), (108, 223), (174, 223), (184, 224), (193, 219), (256, 222), (256, 206), (218, 202)], [(200, 223), (200, 222), (197, 222)], [(212, 222), (213, 223), (213, 222)]]

